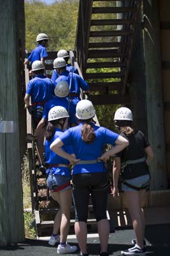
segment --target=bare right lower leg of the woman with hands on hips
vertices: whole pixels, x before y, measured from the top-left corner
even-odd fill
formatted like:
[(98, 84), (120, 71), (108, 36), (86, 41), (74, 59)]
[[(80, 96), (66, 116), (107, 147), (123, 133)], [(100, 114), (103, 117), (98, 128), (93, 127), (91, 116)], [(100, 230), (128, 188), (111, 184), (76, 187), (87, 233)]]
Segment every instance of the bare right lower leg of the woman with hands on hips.
[(97, 229), (99, 233), (99, 239), (101, 242), (101, 252), (107, 252), (108, 239), (110, 234), (110, 225), (107, 219), (97, 222)]

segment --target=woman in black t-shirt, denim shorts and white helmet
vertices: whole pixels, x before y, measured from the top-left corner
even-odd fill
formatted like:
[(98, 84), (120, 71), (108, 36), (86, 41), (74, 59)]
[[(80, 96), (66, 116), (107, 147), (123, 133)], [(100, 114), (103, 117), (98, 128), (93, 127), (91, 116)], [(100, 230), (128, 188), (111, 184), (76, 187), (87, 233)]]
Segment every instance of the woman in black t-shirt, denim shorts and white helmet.
[(145, 219), (142, 202), (146, 189), (150, 186), (148, 164), (153, 159), (153, 152), (148, 140), (141, 131), (132, 129), (132, 112), (129, 108), (119, 108), (115, 113), (115, 125), (129, 146), (114, 157), (113, 196), (118, 196), (118, 177), (121, 170), (122, 191), (132, 219), (136, 239), (134, 247), (122, 251), (122, 255), (145, 255)]

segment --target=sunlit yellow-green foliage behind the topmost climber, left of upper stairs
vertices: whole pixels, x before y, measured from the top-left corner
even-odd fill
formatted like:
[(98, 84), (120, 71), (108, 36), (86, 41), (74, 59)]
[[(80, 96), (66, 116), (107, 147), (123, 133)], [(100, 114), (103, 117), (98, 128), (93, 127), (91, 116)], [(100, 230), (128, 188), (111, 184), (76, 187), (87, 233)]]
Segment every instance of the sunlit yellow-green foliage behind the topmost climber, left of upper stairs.
[(48, 51), (74, 49), (79, 0), (63, 0), (54, 4), (25, 1), (25, 42), (27, 51), (36, 47), (36, 36), (50, 38)]

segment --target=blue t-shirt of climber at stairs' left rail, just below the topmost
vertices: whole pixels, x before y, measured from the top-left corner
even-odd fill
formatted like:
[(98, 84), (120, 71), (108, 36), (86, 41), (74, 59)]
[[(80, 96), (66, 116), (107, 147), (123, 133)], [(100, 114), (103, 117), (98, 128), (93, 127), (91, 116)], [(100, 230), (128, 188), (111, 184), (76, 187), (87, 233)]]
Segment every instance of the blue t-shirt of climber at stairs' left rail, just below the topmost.
[[(31, 95), (31, 102), (47, 102), (53, 99), (55, 86), (52, 80), (42, 74), (37, 75), (27, 84), (26, 93)], [(41, 106), (41, 104), (36, 107)]]

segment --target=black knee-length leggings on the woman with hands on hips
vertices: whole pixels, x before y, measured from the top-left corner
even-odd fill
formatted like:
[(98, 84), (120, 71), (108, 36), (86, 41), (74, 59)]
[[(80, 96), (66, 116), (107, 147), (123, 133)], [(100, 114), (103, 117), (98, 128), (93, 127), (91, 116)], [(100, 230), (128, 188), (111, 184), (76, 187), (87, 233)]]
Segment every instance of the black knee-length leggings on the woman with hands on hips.
[(75, 220), (87, 222), (90, 194), (96, 220), (106, 219), (109, 188), (107, 174), (104, 172), (74, 174), (72, 182)]

